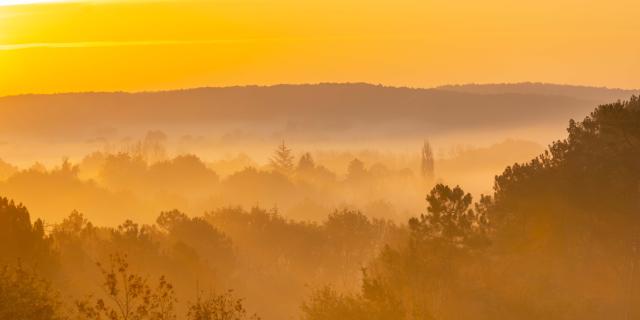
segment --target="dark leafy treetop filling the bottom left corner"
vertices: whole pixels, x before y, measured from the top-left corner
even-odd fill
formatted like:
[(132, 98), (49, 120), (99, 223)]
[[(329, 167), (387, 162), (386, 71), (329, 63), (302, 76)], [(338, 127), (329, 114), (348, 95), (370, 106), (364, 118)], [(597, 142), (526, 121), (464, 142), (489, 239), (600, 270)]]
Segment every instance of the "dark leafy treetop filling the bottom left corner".
[(62, 303), (48, 281), (25, 269), (0, 267), (0, 319), (62, 320)]

